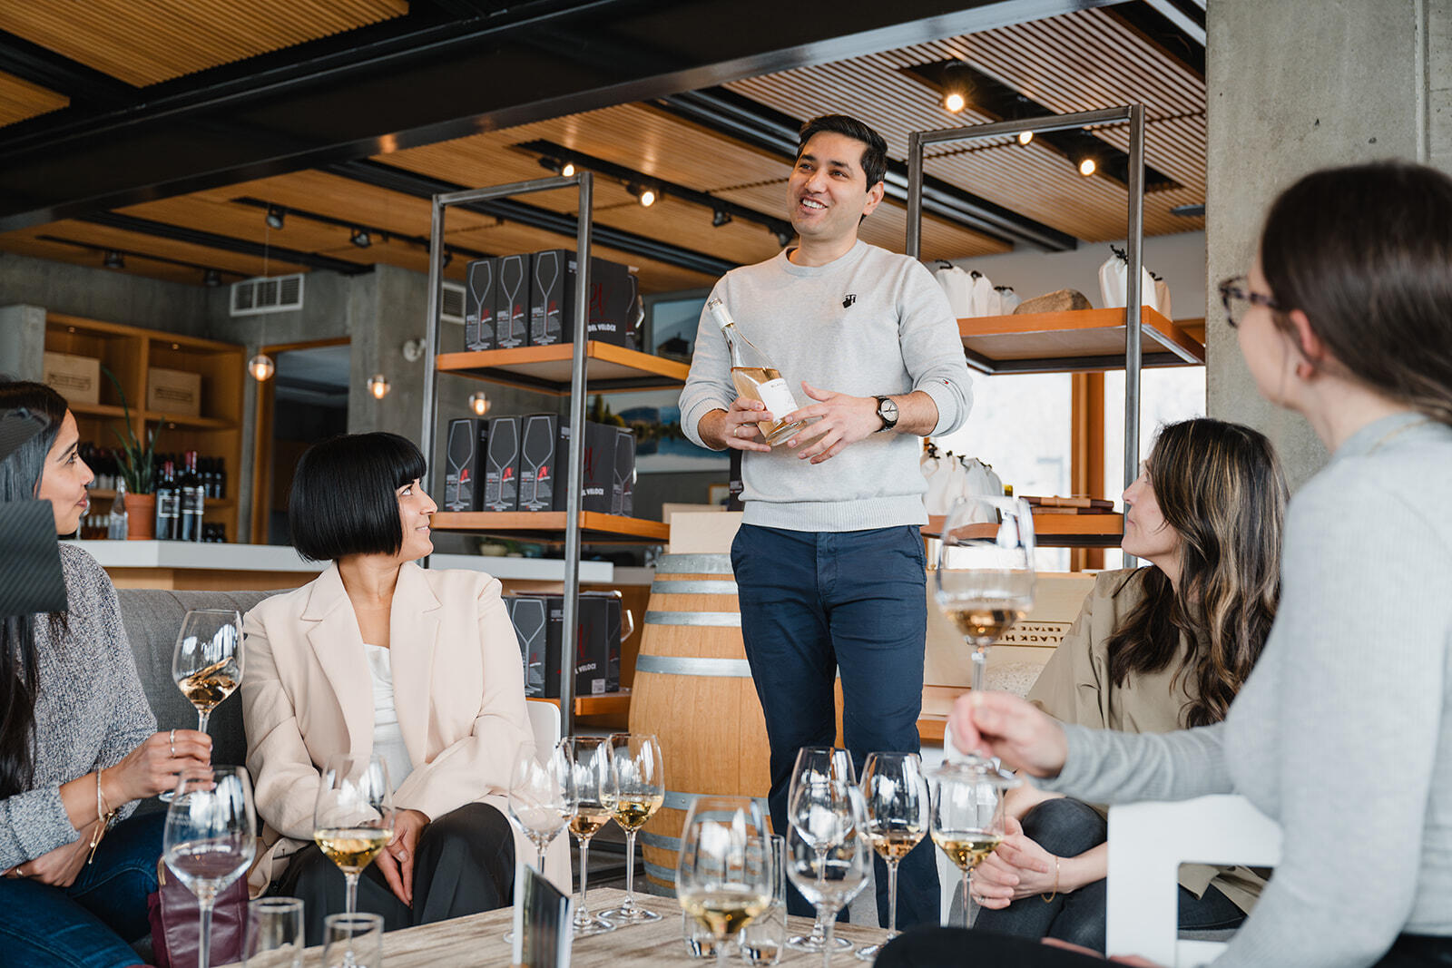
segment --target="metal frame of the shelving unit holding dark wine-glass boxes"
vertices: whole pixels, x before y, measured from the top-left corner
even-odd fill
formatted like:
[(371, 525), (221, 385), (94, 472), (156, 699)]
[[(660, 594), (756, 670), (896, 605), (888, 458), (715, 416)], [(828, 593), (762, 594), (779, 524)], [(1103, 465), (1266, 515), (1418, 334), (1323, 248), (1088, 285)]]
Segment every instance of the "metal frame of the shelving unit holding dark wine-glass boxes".
[[(428, 237), (428, 345), (424, 353), (424, 425), (420, 434), (421, 450), (431, 459), (434, 451), (434, 434), (439, 427), (439, 345), (443, 325), (443, 273), (444, 273), (444, 216), (452, 206), (469, 205), (475, 202), (494, 202), (536, 192), (553, 192), (558, 189), (576, 187), (579, 190), (579, 218), (575, 229), (575, 258), (579, 271), (575, 273), (575, 341), (572, 344), (571, 376), (569, 376), (569, 415), (571, 427), (585, 425), (585, 335), (587, 313), (590, 309), (590, 234), (594, 225), (594, 176), (590, 171), (578, 171), (569, 177), (534, 179), (530, 181), (514, 181), (488, 189), (468, 189), (465, 192), (444, 192), (433, 196), (433, 228)], [(574, 666), (568, 660), (575, 655), (576, 623), (579, 621), (579, 514), (581, 514), (581, 485), (585, 472), (585, 434), (571, 434), (569, 440), (569, 473), (566, 476), (565, 501), (565, 625), (560, 655), (566, 657), (568, 668), (560, 669), (559, 682), (559, 711), (560, 734), (569, 736), (575, 727), (575, 676)], [(427, 482), (425, 482), (427, 483)]]

